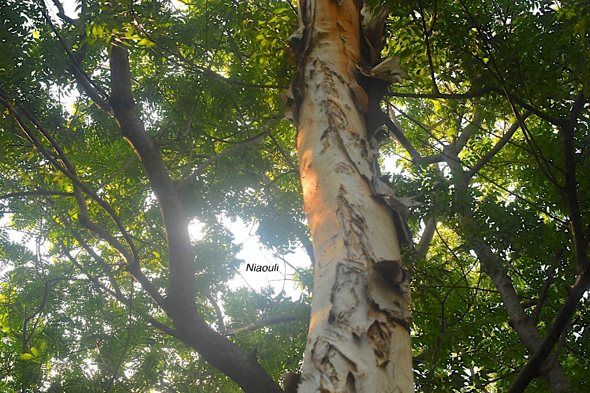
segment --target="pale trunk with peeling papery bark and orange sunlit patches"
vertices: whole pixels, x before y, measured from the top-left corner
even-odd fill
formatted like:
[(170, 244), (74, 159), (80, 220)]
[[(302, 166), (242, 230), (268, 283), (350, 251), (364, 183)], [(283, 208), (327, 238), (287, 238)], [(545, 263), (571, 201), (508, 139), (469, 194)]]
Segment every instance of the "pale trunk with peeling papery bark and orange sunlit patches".
[[(407, 271), (359, 104), (355, 0), (300, 1), (292, 116), (316, 256), (299, 393), (413, 392)], [(366, 109), (366, 105), (364, 105)]]

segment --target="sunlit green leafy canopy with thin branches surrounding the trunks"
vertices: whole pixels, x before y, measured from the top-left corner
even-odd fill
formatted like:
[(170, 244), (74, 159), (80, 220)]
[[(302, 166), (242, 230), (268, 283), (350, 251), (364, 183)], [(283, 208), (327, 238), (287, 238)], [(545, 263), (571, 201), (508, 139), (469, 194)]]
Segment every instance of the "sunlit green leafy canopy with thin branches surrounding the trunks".
[[(75, 18), (57, 0), (0, 5), (0, 390), (240, 391), (166, 315), (176, 249), (155, 161), (122, 131), (121, 53), (176, 224), (204, 224), (199, 315), (275, 380), (298, 371), (310, 268), (296, 300), (231, 289), (244, 261), (224, 225), (255, 222), (275, 255), (314, 260), (280, 98), (297, 4), (76, 4)], [(588, 1), (386, 4), (382, 55), (408, 78), (382, 103), (381, 163), (421, 202), (405, 255), (417, 389), (590, 391)], [(520, 382), (543, 342), (543, 378)]]

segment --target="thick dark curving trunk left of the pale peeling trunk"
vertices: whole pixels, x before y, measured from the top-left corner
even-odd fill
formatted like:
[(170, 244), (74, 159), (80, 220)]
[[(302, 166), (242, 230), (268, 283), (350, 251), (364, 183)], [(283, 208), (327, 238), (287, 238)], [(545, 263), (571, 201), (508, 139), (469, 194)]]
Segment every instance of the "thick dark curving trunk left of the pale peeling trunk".
[[(166, 230), (169, 256), (169, 318), (176, 337), (194, 348), (211, 366), (228, 375), (245, 392), (280, 393), (277, 382), (257, 359), (219, 335), (199, 315), (195, 303), (195, 255), (188, 234), (188, 222), (178, 189), (172, 183), (158, 146), (145, 130), (136, 112), (131, 90), (131, 70), (127, 49), (113, 46), (110, 52), (111, 95), (109, 103), (121, 134), (135, 149), (158, 200)], [(139, 269), (139, 265), (133, 265)]]

